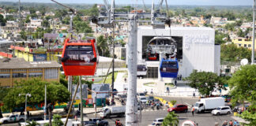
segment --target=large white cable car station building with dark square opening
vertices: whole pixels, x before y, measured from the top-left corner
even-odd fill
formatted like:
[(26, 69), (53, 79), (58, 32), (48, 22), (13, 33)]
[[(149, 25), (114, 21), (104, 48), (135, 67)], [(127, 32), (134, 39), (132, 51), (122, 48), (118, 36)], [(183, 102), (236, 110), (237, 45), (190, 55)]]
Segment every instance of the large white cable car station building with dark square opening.
[[(154, 37), (171, 37), (177, 42), (178, 75), (186, 77), (194, 69), (220, 74), (220, 45), (215, 45), (213, 28), (171, 27), (153, 29), (141, 26), (137, 29), (137, 61), (145, 61), (148, 71), (145, 78), (160, 78), (160, 59), (149, 58), (147, 44)], [(127, 59), (127, 58), (126, 58)]]

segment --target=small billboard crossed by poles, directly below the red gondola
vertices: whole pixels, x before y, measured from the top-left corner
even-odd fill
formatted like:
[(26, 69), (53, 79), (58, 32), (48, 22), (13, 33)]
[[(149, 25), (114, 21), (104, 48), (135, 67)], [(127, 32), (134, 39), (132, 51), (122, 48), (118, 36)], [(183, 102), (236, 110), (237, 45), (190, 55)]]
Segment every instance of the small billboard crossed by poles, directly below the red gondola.
[[(87, 88), (88, 88), (88, 85), (87, 85), (87, 84), (82, 84), (82, 95), (83, 95), (83, 99), (88, 98), (88, 96), (87, 96), (87, 95), (88, 95)], [(80, 86), (77, 88), (77, 84), (73, 84), (73, 85), (72, 85), (72, 97), (73, 97), (73, 95), (74, 95), (76, 89), (77, 89), (77, 95), (76, 95), (76, 97), (75, 97), (75, 100), (79, 100), (79, 99), (81, 99), (81, 97), (80, 97), (80, 96), (81, 96), (81, 95), (80, 95), (81, 91), (80, 91)]]

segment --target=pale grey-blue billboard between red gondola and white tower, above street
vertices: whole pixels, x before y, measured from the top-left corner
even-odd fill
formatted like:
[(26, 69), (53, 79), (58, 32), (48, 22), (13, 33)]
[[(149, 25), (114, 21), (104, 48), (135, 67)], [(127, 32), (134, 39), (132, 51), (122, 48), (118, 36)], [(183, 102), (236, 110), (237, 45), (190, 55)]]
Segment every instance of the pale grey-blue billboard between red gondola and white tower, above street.
[(92, 84), (92, 98), (107, 98), (109, 93), (97, 94), (95, 92), (109, 92), (109, 84)]

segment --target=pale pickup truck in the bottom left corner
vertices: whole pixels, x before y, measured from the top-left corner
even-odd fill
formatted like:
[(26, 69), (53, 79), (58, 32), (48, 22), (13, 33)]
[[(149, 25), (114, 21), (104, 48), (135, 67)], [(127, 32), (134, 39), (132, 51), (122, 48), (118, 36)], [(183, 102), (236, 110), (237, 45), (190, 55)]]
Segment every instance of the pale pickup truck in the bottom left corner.
[(24, 121), (24, 115), (18, 114), (10, 114), (8, 117), (3, 117), (0, 119), (0, 124), (14, 123), (14, 122), (22, 122)]

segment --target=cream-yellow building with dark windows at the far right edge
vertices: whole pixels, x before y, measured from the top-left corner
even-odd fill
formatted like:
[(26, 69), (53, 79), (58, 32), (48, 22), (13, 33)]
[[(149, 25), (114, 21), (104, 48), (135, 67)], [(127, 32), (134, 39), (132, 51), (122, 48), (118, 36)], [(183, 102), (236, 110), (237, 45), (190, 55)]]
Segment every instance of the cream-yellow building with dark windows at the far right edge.
[[(232, 43), (235, 43), (237, 46), (243, 46), (248, 49), (252, 49), (252, 39), (247, 39), (247, 38), (234, 38), (232, 39)], [(256, 45), (254, 46), (254, 49), (256, 48)]]

